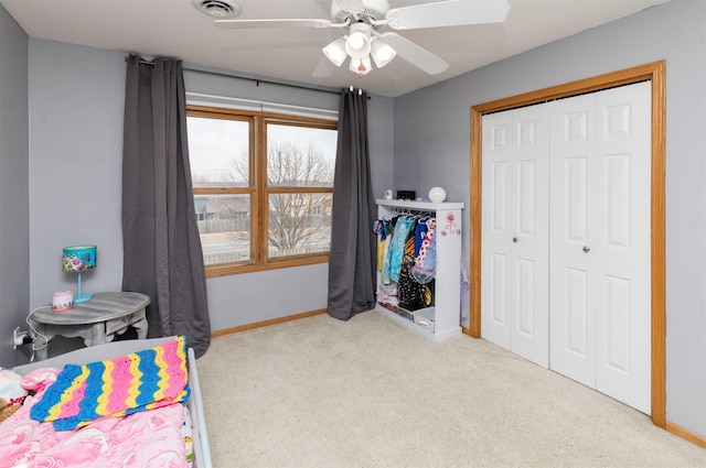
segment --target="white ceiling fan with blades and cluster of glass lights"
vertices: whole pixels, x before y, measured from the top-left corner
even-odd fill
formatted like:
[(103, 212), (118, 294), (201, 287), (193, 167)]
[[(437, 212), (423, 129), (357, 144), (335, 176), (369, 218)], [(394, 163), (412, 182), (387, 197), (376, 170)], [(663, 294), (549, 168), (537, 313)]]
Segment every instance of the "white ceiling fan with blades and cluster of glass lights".
[[(442, 58), (394, 31), (498, 23), (510, 11), (507, 0), (446, 0), (389, 8), (387, 0), (332, 0), (331, 19), (216, 20), (220, 28), (339, 28), (347, 34), (322, 48), (334, 65), (350, 56), (350, 69), (366, 75), (387, 65), (396, 55), (430, 75), (449, 67)], [(372, 62), (371, 62), (372, 59)]]

